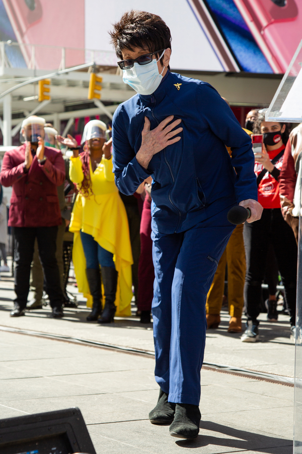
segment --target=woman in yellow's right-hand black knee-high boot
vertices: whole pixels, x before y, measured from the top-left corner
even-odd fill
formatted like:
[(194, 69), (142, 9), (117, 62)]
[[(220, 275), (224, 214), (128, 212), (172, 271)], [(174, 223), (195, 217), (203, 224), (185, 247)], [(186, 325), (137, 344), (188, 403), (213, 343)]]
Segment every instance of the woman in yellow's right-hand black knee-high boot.
[(104, 286), (105, 306), (102, 316), (98, 323), (111, 323), (114, 319), (116, 311), (115, 294), (117, 288), (117, 275), (116, 269), (111, 266), (102, 266), (102, 281)]

